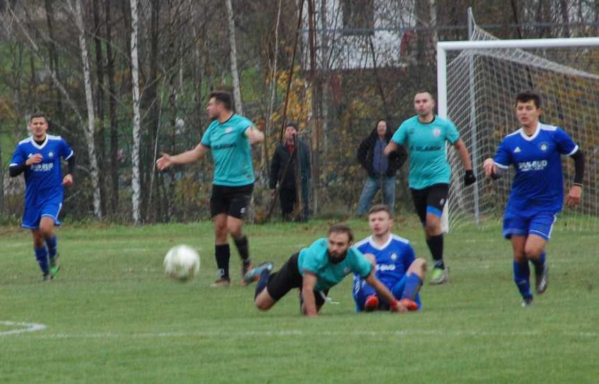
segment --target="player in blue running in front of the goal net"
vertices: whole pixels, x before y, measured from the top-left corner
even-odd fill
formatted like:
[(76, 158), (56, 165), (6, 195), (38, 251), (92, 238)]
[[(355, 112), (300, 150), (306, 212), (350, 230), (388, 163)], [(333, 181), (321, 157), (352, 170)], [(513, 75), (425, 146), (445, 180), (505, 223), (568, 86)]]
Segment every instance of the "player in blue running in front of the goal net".
[(500, 177), (509, 166), (516, 171), (503, 215), (503, 236), (512, 242), (514, 281), (523, 306), (532, 304), (528, 261), (534, 265), (537, 293), (547, 289), (545, 246), (564, 200), (561, 155), (572, 157), (575, 166), (566, 204), (580, 202), (584, 177), (580, 148), (561, 128), (539, 122), (540, 115), (541, 96), (532, 90), (521, 91), (516, 96), (516, 117), (522, 127), (501, 141), (494, 159), (483, 163), (487, 177)]

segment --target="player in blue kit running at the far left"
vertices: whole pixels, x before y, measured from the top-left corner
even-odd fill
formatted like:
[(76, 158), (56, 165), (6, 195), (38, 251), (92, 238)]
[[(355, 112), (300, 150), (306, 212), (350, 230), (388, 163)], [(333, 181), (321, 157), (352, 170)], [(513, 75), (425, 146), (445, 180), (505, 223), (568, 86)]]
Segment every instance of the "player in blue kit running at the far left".
[[(42, 270), (43, 280), (56, 276), (58, 213), (65, 194), (63, 186), (73, 184), (75, 156), (60, 136), (47, 134), (48, 119), (42, 113), (33, 114), (29, 121), (31, 136), (19, 141), (10, 160), (10, 177), (25, 175), (25, 209), (22, 227), (31, 229), (35, 259)], [(60, 159), (67, 160), (69, 171), (62, 177)]]

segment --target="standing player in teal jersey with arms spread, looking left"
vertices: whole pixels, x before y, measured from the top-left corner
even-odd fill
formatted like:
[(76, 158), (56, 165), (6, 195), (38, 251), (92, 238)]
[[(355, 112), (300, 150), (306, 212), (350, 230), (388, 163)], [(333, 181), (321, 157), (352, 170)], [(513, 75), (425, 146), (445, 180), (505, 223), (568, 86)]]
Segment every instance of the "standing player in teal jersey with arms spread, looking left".
[(196, 162), (208, 150), (212, 152), (214, 181), (210, 214), (214, 221), (214, 254), (219, 268), (219, 279), (212, 287), (225, 287), (230, 284), (229, 234), (242, 259), (242, 277), (253, 268), (248, 238), (243, 232), (243, 220), (255, 180), (250, 146), (263, 141), (264, 134), (251, 121), (233, 112), (233, 102), (228, 92), (212, 92), (207, 111), (212, 123), (196, 148), (174, 156), (162, 153), (156, 166), (162, 171), (171, 165)]

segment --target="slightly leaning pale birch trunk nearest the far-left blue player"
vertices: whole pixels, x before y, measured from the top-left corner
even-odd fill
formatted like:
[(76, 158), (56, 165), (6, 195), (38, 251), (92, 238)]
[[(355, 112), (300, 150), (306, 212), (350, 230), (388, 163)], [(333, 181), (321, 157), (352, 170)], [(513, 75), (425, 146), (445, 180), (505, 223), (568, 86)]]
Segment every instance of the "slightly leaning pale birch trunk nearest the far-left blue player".
[[(71, 4), (72, 7), (72, 4)], [(83, 12), (81, 0), (75, 0), (75, 22), (79, 29), (79, 47), (81, 48), (81, 61), (83, 62), (83, 82), (85, 83), (85, 101), (87, 102), (87, 129), (85, 140), (87, 141), (87, 152), (90, 157), (90, 176), (94, 190), (94, 216), (102, 218), (101, 198), (98, 177), (98, 162), (96, 159), (96, 148), (94, 144), (94, 130), (96, 116), (94, 114), (94, 96), (92, 94), (92, 79), (90, 76), (90, 61), (87, 58), (87, 41), (85, 40), (85, 28), (83, 27)]]

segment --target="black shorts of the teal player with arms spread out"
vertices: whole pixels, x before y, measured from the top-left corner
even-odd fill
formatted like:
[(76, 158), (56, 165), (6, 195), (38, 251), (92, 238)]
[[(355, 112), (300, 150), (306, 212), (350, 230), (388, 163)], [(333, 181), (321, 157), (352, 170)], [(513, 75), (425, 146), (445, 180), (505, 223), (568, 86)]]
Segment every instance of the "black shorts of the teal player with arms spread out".
[(226, 213), (234, 218), (244, 218), (252, 198), (254, 184), (242, 186), (224, 186), (212, 184), (210, 196), (210, 215)]

